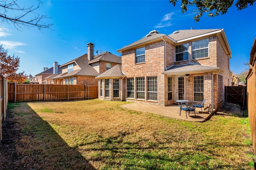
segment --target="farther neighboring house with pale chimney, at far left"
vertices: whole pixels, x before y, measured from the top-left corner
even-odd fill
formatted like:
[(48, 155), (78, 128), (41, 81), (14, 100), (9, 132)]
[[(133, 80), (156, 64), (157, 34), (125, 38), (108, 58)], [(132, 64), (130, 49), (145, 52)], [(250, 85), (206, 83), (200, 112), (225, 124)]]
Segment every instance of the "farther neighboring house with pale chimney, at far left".
[(51, 76), (52, 74), (58, 74), (60, 72), (61, 72), (60, 65), (58, 65), (58, 62), (54, 62), (53, 67), (51, 67), (51, 68), (44, 67), (43, 72), (36, 74), (35, 77), (33, 78), (34, 79), (33, 83), (47, 84), (46, 78), (48, 76)]

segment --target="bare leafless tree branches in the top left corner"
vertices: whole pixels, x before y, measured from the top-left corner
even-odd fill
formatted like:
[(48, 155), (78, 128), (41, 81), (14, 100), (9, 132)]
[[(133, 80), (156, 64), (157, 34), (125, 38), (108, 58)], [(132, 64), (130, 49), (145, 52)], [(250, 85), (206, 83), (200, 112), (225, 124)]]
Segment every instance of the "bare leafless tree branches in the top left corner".
[(18, 0), (0, 0), (0, 27), (2, 28), (3, 23), (13, 23), (16, 29), (22, 29), (24, 27), (38, 27), (41, 31), (44, 28), (50, 28), (53, 24), (46, 24), (43, 22), (46, 15), (39, 15), (35, 13), (35, 10), (39, 8), (41, 4), (40, 1), (38, 6), (34, 7), (22, 7), (17, 4)]

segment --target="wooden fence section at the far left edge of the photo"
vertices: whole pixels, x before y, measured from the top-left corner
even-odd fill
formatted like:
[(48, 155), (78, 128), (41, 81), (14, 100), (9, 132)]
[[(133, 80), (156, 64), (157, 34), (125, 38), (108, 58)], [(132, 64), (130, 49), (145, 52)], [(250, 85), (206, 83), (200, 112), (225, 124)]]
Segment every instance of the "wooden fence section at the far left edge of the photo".
[(0, 113), (1, 113), (1, 120), (0, 120), (0, 141), (2, 141), (2, 121), (5, 121), (6, 118), (6, 109), (7, 109), (7, 81), (6, 79), (0, 75)]

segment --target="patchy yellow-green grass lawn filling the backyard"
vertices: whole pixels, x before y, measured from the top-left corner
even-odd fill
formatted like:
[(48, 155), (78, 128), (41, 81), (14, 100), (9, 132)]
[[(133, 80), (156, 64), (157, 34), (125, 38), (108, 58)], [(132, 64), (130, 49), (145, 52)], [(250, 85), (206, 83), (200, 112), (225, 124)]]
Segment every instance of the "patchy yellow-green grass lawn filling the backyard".
[(248, 170), (253, 152), (247, 118), (204, 123), (119, 107), (126, 102), (9, 103), (28, 169)]

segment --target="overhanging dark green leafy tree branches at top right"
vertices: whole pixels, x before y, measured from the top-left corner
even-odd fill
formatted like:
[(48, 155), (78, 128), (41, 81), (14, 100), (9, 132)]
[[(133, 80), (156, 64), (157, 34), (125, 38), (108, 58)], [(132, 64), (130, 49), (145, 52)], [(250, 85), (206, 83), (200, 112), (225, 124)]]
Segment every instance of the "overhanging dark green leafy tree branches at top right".
[[(188, 6), (196, 5), (196, 10), (194, 20), (198, 22), (204, 13), (208, 13), (209, 17), (218, 16), (219, 14), (223, 15), (228, 12), (233, 4), (235, 4), (237, 10), (242, 10), (247, 8), (248, 5), (252, 6), (256, 0), (237, 0), (234, 3), (234, 0), (181, 0), (181, 10), (184, 14), (188, 10)], [(174, 6), (176, 5), (177, 0), (169, 0)]]

